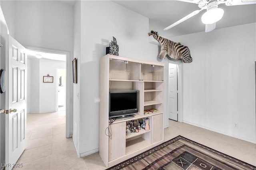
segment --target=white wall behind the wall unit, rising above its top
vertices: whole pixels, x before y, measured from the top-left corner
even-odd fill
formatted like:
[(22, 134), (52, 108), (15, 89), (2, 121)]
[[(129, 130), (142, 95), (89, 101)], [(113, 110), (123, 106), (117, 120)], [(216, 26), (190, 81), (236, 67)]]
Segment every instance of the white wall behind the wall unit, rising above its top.
[(80, 3), (80, 101), (76, 101), (80, 102), (80, 115), (74, 114), (80, 118), (77, 125), (80, 136), (78, 152), (84, 156), (97, 152), (99, 148), (100, 58), (106, 54), (112, 36), (117, 39), (122, 57), (157, 61), (158, 47), (148, 43), (148, 18), (111, 1)]

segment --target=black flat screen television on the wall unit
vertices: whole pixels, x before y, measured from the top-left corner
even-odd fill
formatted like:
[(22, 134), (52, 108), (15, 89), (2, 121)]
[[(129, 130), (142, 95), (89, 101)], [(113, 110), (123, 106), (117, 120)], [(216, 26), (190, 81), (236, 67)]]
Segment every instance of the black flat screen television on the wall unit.
[(110, 91), (109, 117), (128, 119), (138, 113), (138, 90)]

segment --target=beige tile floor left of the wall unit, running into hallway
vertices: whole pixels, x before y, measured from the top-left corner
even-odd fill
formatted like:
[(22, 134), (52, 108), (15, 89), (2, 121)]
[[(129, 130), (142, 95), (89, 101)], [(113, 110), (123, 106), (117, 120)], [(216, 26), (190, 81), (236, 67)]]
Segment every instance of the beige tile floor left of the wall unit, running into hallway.
[(42, 114), (28, 113), (27, 147), (17, 162), (22, 163), (23, 167), (13, 169), (104, 169), (98, 153), (78, 158), (72, 138), (65, 137), (65, 121), (65, 111)]

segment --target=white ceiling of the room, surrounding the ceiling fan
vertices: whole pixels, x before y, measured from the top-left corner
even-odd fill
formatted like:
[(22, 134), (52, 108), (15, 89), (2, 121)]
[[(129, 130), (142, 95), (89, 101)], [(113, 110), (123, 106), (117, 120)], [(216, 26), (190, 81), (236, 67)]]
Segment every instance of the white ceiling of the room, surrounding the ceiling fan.
[[(159, 29), (154, 31), (158, 31), (160, 35), (164, 33), (172, 37), (205, 30), (205, 25), (201, 21), (202, 14), (206, 12), (203, 10), (179, 25), (163, 31), (165, 27), (194, 10), (200, 10), (197, 4), (176, 0), (115, 0), (114, 2), (149, 18), (150, 29)], [(224, 10), (224, 16), (216, 23), (216, 29), (256, 22), (256, 4), (239, 6), (220, 4), (218, 8)]]

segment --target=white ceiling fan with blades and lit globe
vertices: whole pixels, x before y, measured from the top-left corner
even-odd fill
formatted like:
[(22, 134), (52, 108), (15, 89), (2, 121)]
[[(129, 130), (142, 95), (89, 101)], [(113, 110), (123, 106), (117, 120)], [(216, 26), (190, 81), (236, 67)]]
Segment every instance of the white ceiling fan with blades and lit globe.
[(202, 15), (202, 22), (205, 24), (205, 32), (210, 32), (215, 29), (216, 22), (220, 20), (224, 14), (224, 10), (218, 8), (219, 4), (226, 4), (226, 6), (233, 6), (233, 5), (246, 5), (246, 4), (256, 4), (256, 0), (178, 0), (182, 2), (190, 2), (194, 4), (198, 4), (200, 10), (195, 10), (192, 13), (188, 14), (184, 18), (178, 20), (177, 22), (169, 25), (168, 27), (164, 28), (164, 31), (182, 23), (183, 21), (188, 20), (192, 16), (195, 16), (202, 10), (207, 10)]

